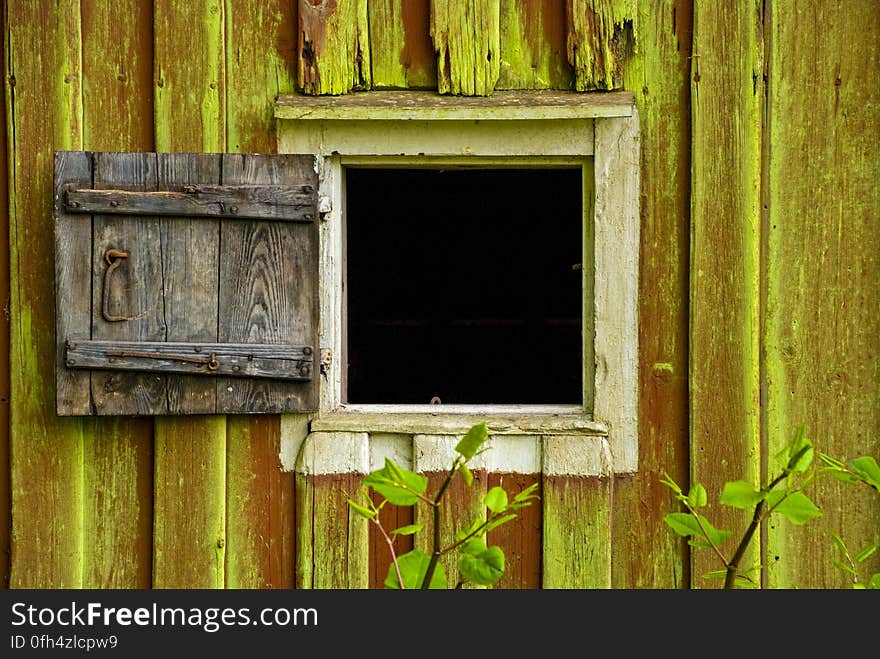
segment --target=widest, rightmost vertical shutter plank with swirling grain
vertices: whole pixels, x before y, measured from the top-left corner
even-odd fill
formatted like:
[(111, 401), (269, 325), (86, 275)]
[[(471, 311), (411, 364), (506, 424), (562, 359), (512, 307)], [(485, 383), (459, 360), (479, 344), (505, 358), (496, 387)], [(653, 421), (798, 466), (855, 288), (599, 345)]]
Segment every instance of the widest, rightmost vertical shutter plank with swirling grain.
[[(227, 184), (296, 182), (317, 189), (310, 156), (225, 154)], [(317, 346), (317, 227), (224, 220), (219, 257), (219, 339)], [(310, 368), (309, 376), (314, 375)], [(218, 411), (311, 411), (317, 383), (217, 382)]]

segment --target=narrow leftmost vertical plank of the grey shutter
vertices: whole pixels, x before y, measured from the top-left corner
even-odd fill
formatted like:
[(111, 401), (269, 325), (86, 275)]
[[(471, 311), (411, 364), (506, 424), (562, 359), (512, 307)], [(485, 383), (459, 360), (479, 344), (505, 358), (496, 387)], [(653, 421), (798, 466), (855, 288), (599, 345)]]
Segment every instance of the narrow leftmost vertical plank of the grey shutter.
[(65, 342), (91, 338), (91, 300), (83, 284), (92, 274), (92, 223), (65, 212), (64, 185), (92, 184), (92, 158), (85, 151), (55, 154), (55, 396), (59, 415), (91, 413), (89, 373), (64, 368)]

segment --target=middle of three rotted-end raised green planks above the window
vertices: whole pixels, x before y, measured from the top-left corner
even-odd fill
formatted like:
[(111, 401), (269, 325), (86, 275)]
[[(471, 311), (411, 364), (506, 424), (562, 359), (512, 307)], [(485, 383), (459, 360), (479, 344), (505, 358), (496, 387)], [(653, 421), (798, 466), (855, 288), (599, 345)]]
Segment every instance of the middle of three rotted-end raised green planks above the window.
[(501, 63), (501, 0), (431, 0), (441, 94), (489, 96)]

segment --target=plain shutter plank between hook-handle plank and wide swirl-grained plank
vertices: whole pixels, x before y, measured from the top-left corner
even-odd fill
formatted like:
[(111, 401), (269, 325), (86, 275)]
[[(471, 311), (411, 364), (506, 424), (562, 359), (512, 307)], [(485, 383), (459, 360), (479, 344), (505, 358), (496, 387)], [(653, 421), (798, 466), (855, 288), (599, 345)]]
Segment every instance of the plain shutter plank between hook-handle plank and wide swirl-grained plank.
[[(220, 183), (216, 154), (158, 154), (159, 190), (181, 184)], [(186, 217), (161, 219), (162, 283), (167, 341), (217, 341), (217, 261), (220, 223)], [(194, 376), (168, 377), (168, 412), (216, 411), (215, 383)]]

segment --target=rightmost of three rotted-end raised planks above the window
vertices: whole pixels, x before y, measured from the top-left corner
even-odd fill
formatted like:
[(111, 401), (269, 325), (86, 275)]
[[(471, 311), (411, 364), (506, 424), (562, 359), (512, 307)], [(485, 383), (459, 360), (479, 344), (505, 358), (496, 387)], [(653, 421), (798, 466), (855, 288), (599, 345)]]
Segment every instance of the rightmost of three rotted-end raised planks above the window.
[(638, 39), (637, 6), (638, 0), (566, 0), (566, 45), (576, 90), (621, 88)]

